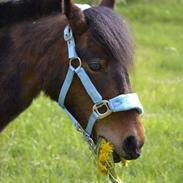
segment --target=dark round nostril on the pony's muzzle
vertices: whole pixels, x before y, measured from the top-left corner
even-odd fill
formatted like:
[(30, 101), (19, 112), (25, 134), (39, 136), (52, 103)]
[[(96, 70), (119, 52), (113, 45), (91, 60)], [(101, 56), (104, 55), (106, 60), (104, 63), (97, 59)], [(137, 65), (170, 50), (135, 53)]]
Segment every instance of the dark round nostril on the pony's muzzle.
[(124, 140), (123, 150), (127, 159), (136, 159), (140, 156), (140, 147), (134, 136), (129, 136)]

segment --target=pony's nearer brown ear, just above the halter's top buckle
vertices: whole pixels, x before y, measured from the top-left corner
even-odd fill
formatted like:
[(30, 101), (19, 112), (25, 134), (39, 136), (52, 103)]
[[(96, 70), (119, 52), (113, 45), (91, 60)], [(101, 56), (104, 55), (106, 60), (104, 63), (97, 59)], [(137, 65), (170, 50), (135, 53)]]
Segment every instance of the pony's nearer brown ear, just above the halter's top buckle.
[(62, 0), (62, 13), (67, 17), (69, 25), (76, 35), (87, 30), (84, 13), (71, 0)]

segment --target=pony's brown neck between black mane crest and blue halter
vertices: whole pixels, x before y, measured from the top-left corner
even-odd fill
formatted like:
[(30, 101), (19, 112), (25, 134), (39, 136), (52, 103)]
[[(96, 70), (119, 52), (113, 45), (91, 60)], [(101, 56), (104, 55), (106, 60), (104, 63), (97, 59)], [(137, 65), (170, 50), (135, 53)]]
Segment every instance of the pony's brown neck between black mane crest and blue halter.
[(2, 40), (10, 44), (0, 50), (0, 131), (41, 90), (53, 100), (58, 99), (67, 72), (67, 46), (63, 39), (66, 24), (65, 16), (57, 15), (0, 32), (0, 48)]

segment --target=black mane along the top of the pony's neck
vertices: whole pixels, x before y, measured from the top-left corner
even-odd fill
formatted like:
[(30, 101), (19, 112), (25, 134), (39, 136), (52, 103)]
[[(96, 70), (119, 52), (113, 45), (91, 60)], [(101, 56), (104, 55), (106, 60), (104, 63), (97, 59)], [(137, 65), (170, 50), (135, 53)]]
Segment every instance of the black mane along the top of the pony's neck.
[(0, 28), (61, 11), (60, 0), (11, 0), (0, 3)]

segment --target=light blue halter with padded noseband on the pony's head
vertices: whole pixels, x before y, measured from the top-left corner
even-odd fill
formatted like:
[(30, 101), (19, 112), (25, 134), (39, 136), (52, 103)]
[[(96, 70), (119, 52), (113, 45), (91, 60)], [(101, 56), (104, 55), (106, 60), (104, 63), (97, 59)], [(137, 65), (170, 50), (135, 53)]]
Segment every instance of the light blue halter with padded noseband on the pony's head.
[[(77, 53), (76, 53), (75, 41), (72, 34), (72, 30), (69, 26), (66, 26), (64, 29), (64, 39), (67, 42), (67, 47), (68, 47), (69, 68), (59, 94), (58, 103), (64, 109), (64, 111), (70, 116), (76, 129), (78, 129), (79, 131), (82, 131), (86, 140), (89, 142), (89, 144), (91, 146), (94, 146), (93, 140), (91, 138), (91, 134), (92, 134), (93, 126), (97, 120), (107, 117), (112, 112), (136, 109), (139, 114), (143, 114), (144, 110), (139, 101), (138, 95), (136, 93), (121, 94), (110, 100), (103, 100), (102, 96), (97, 91), (92, 81), (90, 80), (88, 74), (85, 72), (84, 68), (82, 67), (81, 59), (77, 56)], [(72, 65), (74, 62), (78, 63), (77, 67), (74, 67)], [(94, 103), (92, 113), (88, 119), (88, 124), (85, 130), (81, 127), (79, 122), (66, 109), (64, 105), (65, 98), (71, 86), (74, 74), (77, 74), (86, 92), (88, 93), (88, 95), (90, 96), (90, 98)], [(101, 113), (100, 112), (101, 108), (105, 108), (105, 112)]]

